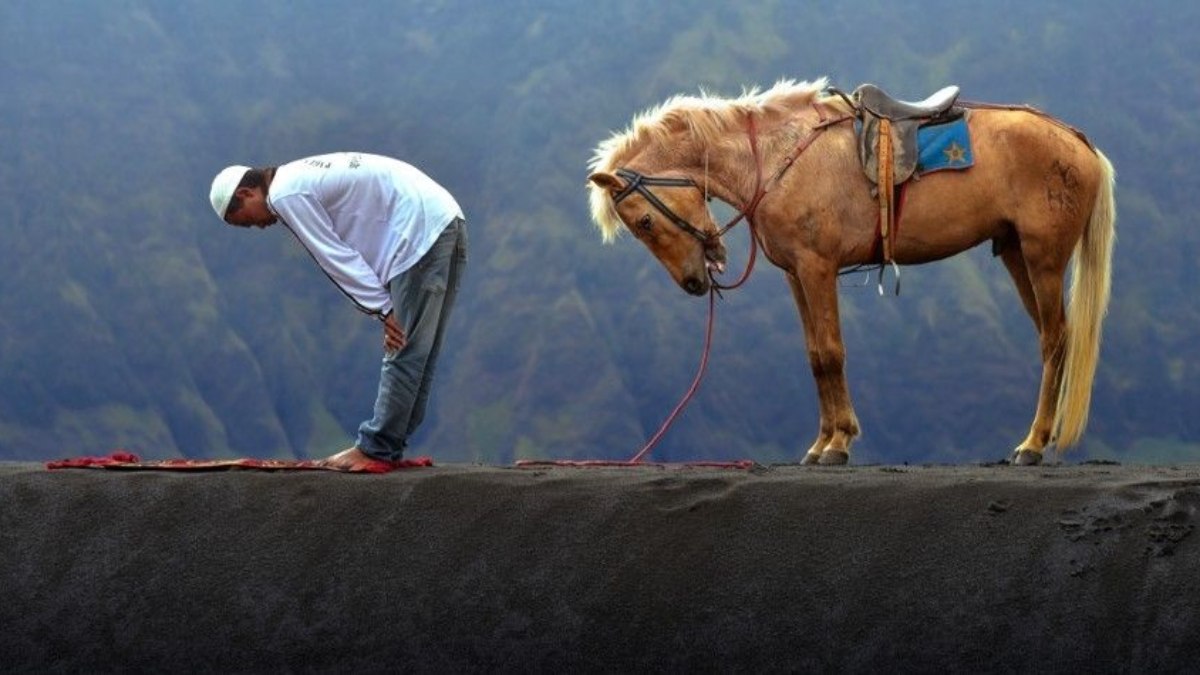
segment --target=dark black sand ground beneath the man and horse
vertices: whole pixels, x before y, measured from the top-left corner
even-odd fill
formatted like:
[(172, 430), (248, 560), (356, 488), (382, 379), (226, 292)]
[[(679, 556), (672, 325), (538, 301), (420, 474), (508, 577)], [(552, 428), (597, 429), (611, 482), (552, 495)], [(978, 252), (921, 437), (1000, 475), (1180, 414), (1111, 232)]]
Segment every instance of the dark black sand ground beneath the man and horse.
[(1200, 466), (0, 465), (4, 671), (1200, 668)]

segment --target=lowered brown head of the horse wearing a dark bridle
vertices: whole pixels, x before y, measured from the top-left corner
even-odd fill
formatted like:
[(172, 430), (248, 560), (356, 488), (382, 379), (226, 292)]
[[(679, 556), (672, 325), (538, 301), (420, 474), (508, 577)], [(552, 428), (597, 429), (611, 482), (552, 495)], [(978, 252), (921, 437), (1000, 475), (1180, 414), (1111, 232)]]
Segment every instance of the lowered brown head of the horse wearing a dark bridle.
[(593, 173), (588, 180), (594, 191), (593, 211), (596, 198), (611, 199), (620, 222), (684, 291), (703, 295), (710, 271), (725, 271), (725, 245), (696, 181), (648, 177), (628, 168)]

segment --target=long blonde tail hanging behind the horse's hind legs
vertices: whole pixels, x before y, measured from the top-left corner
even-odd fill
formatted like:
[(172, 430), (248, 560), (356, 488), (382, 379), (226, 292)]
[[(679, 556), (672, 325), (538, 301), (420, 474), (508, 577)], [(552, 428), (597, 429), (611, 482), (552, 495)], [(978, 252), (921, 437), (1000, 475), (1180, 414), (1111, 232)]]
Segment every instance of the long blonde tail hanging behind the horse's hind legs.
[(1067, 306), (1067, 351), (1054, 428), (1056, 447), (1075, 444), (1087, 426), (1092, 402), (1092, 380), (1100, 353), (1100, 327), (1109, 309), (1112, 285), (1112, 244), (1116, 240), (1116, 173), (1104, 153), (1100, 160), (1100, 185), (1092, 216), (1084, 237), (1075, 246), (1070, 267), (1070, 299)]

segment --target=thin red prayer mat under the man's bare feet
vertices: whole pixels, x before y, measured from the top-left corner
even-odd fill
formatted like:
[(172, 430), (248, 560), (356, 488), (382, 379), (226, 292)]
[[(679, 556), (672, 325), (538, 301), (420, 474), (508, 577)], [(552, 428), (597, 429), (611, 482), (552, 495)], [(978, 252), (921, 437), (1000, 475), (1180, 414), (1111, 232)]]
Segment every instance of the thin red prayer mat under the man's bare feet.
[(419, 468), (433, 466), (427, 456), (402, 459), (400, 461), (372, 461), (362, 468), (348, 470), (322, 466), (319, 460), (288, 459), (161, 459), (142, 461), (142, 458), (125, 450), (116, 450), (104, 456), (82, 456), (46, 462), (46, 468), (116, 468), (125, 471), (336, 471), (338, 473), (388, 473), (400, 468)]

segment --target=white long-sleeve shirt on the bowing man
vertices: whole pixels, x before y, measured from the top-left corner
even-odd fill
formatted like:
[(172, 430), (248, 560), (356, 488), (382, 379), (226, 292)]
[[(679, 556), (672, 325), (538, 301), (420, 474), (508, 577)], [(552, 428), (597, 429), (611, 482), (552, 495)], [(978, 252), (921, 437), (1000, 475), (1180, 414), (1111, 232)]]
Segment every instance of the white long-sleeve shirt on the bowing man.
[(391, 311), (388, 282), (416, 264), (462, 209), (416, 167), (365, 153), (278, 167), (268, 207), (360, 310)]

